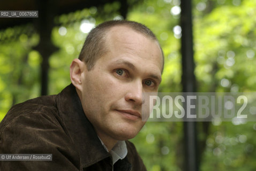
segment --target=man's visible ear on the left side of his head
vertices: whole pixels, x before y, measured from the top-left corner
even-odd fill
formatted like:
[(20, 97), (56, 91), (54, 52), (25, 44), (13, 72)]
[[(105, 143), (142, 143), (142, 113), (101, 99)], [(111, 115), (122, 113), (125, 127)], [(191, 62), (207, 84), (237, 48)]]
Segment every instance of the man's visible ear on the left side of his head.
[(71, 82), (80, 91), (82, 91), (82, 73), (86, 70), (86, 64), (80, 59), (74, 59), (70, 65)]

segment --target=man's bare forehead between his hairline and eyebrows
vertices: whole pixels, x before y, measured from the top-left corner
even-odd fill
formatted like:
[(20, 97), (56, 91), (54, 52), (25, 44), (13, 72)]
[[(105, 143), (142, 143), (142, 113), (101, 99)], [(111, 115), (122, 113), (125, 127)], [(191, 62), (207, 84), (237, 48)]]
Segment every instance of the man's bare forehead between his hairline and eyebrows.
[(106, 34), (106, 48), (110, 52), (130, 53), (141, 60), (153, 61), (162, 71), (162, 50), (157, 40), (139, 33), (130, 26), (111, 27)]

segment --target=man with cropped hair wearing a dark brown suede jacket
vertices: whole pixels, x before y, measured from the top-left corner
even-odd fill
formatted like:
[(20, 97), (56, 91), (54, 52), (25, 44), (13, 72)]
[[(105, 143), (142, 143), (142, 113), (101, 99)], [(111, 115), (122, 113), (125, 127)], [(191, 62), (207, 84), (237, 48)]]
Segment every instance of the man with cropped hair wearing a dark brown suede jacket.
[(2, 170), (146, 170), (127, 141), (144, 126), (142, 92), (156, 92), (163, 53), (132, 21), (107, 21), (87, 36), (60, 94), (13, 106), (0, 125), (0, 153), (52, 154), (1, 161)]

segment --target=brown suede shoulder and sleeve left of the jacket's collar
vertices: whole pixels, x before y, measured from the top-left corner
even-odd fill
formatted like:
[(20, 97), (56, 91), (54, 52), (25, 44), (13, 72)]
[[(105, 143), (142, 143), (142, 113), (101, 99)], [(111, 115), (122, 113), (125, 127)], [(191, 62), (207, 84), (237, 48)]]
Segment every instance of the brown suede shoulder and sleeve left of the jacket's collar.
[(0, 170), (78, 170), (79, 153), (59, 116), (56, 96), (13, 106), (0, 123), (0, 153), (52, 154), (52, 162), (0, 162)]

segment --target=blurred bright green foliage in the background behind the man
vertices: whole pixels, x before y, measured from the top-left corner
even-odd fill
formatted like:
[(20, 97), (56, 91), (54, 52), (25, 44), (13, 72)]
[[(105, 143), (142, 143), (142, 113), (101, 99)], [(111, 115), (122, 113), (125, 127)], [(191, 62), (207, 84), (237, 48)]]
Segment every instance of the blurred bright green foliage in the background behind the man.
[[(133, 1), (130, 1), (133, 3)], [(145, 24), (159, 38), (165, 55), (161, 92), (182, 90), (180, 35), (175, 32), (179, 14), (171, 13), (179, 0), (145, 0), (130, 9), (127, 19)], [(118, 2), (102, 9), (85, 9), (55, 18), (52, 42), (59, 47), (49, 59), (49, 94), (57, 94), (70, 83), (69, 65), (77, 58), (87, 34), (81, 32), (83, 19), (95, 25), (122, 18)], [(193, 0), (193, 38), (197, 89), (202, 92), (242, 92), (256, 89), (256, 1)], [(34, 47), (39, 35), (23, 32), (32, 25), (0, 32), (0, 120), (9, 108), (40, 96), (42, 57)], [(60, 28), (66, 34), (60, 34)], [(177, 30), (176, 30), (177, 31)], [(3, 41), (5, 40), (5, 41)], [(200, 170), (256, 170), (256, 124), (247, 122), (210, 123)], [(183, 124), (148, 122), (132, 139), (148, 170), (181, 170)]]

